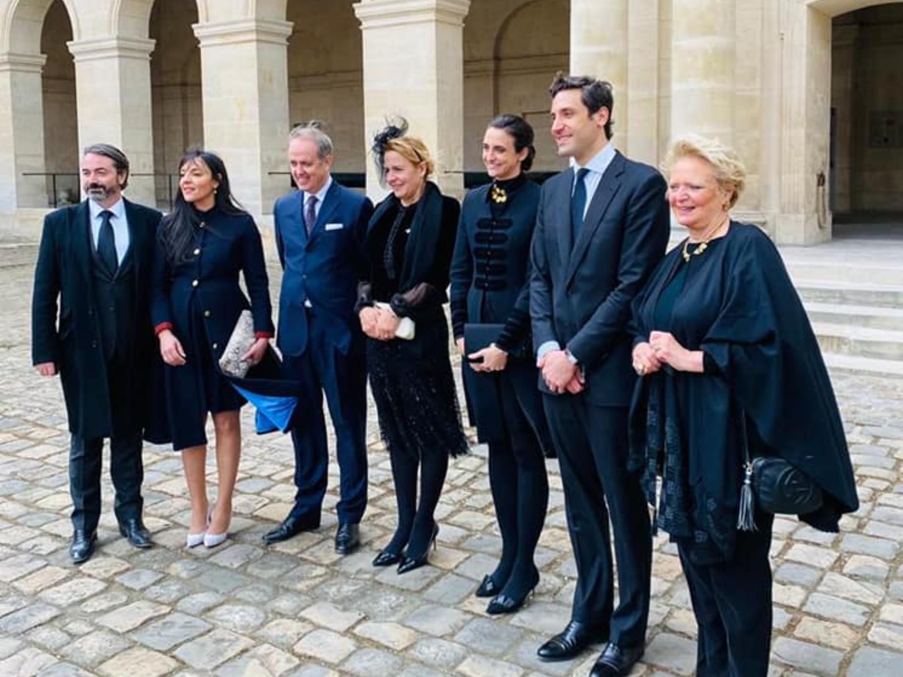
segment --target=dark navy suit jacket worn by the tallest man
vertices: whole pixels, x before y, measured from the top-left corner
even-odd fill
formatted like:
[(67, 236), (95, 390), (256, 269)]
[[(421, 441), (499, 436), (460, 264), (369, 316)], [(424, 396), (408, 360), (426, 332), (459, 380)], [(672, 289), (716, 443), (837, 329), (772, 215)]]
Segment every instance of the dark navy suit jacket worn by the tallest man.
[[(568, 169), (543, 185), (531, 260), (534, 348), (555, 340), (580, 360), (590, 403), (626, 406), (636, 374), (626, 329), (630, 303), (665, 255), (666, 182), (616, 153), (602, 175), (576, 243)], [(540, 389), (548, 393), (540, 378)], [(563, 395), (566, 396), (566, 395)]]

